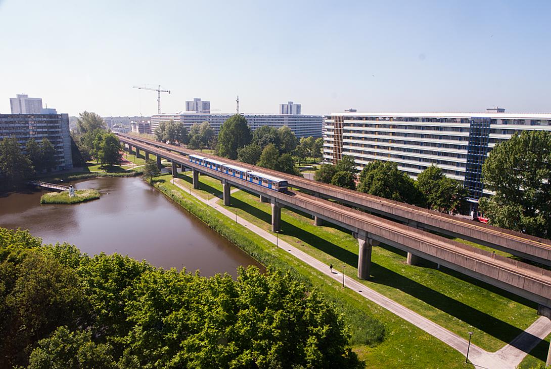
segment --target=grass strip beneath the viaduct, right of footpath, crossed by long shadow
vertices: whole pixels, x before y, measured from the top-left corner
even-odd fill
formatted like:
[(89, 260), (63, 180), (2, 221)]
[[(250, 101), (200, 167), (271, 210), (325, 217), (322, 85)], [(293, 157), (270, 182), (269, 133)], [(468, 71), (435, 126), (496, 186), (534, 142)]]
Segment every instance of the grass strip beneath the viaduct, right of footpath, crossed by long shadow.
[[(207, 194), (220, 194), (219, 181), (204, 176), (201, 181)], [(238, 191), (229, 208), (269, 231), (271, 207), (257, 196)], [(347, 275), (356, 279), (358, 244), (348, 232), (331, 224), (316, 227), (311, 217), (284, 209), (280, 238), (327, 264), (346, 264)], [(370, 281), (359, 281), (463, 338), (474, 331), (473, 343), (488, 351), (500, 349), (538, 318), (532, 302), (431, 263), (407, 265), (405, 253), (385, 245), (373, 250), (371, 274)], [(546, 357), (537, 350), (531, 355)]]

